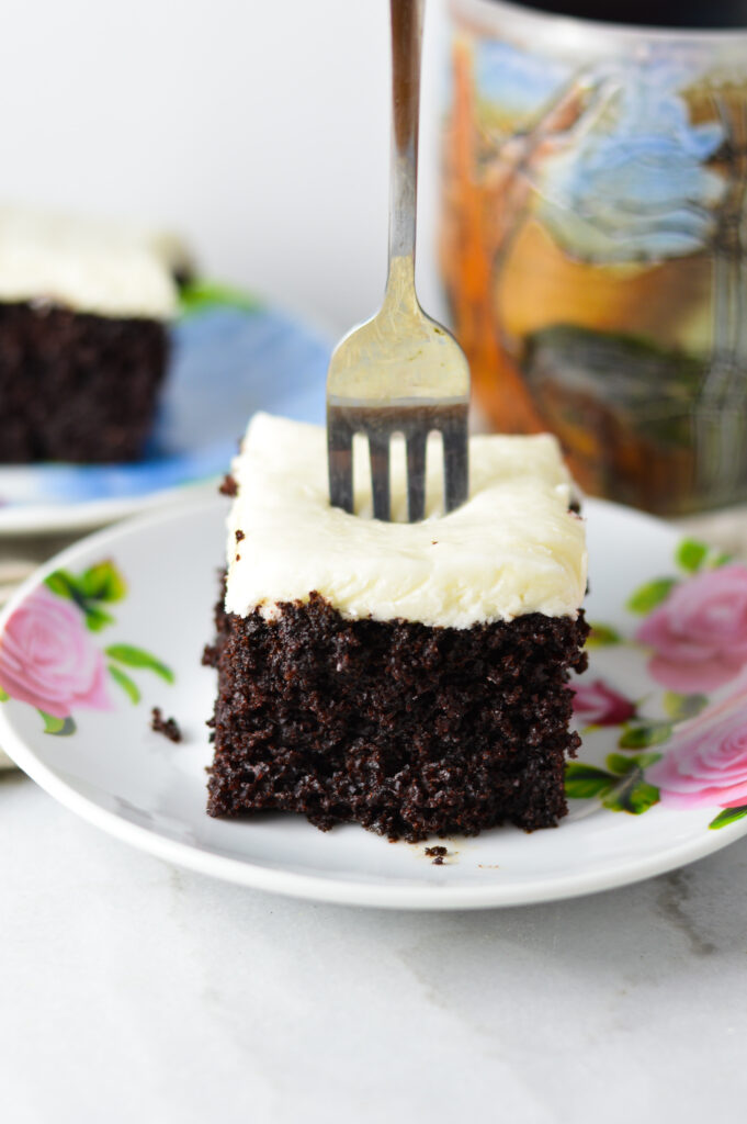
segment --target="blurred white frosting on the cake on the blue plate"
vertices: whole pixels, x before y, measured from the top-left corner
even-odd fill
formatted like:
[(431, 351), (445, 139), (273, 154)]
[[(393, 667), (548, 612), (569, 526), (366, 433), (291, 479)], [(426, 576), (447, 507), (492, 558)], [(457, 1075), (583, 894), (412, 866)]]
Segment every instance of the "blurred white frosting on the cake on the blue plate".
[(100, 219), (0, 207), (0, 301), (166, 320), (176, 312), (158, 238)]

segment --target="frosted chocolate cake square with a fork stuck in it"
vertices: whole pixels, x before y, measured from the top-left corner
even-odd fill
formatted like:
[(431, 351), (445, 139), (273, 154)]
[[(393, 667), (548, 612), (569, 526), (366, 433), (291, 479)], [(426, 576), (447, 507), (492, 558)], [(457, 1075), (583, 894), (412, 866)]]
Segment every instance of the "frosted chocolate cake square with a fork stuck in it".
[(419, 524), (331, 508), (315, 426), (256, 416), (233, 478), (208, 812), (411, 841), (556, 824), (587, 627), (555, 438), (473, 437), (468, 501)]

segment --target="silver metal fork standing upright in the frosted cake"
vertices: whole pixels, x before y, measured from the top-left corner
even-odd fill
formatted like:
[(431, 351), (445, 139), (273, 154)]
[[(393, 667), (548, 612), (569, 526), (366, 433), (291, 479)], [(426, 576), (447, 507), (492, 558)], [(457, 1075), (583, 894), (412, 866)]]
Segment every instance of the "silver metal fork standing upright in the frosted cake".
[(389, 273), (381, 309), (335, 348), (327, 373), (329, 498), (353, 513), (353, 437), (368, 438), (373, 514), (391, 518), (390, 444), (407, 447), (408, 520), (426, 509), (426, 447), (441, 434), (444, 507), (468, 489), (470, 366), (454, 337), (420, 305), (415, 289), (418, 117), (423, 0), (390, 0), (392, 140)]

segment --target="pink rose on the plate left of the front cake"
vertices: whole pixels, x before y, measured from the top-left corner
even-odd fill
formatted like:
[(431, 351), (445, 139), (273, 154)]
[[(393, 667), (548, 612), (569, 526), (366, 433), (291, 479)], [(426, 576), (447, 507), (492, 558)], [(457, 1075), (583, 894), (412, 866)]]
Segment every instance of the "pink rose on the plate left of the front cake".
[(45, 586), (13, 613), (0, 640), (0, 687), (67, 718), (76, 707), (109, 710), (103, 656), (79, 608)]

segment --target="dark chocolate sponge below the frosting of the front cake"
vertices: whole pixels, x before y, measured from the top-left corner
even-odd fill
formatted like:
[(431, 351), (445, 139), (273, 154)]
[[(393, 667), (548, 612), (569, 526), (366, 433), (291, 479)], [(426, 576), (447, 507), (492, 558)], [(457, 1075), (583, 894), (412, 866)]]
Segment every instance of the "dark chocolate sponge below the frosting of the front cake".
[(415, 843), (565, 815), (583, 613), (432, 628), (348, 620), (313, 592), (279, 609), (217, 606), (211, 816), (294, 812)]

